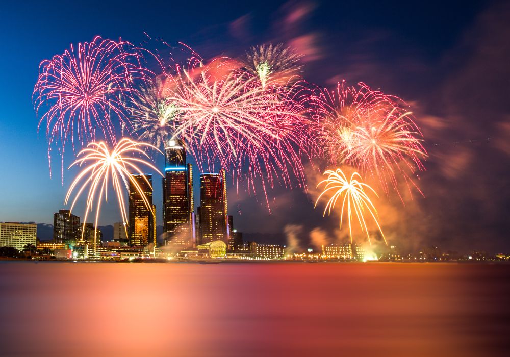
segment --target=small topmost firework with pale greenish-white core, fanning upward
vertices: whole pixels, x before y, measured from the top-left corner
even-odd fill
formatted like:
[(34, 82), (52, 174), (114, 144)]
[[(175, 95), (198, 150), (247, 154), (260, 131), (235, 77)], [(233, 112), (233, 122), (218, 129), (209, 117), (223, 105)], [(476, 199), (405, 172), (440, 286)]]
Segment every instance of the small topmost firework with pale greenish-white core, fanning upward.
[(251, 47), (244, 62), (246, 70), (259, 79), (262, 87), (266, 87), (268, 84), (283, 85), (292, 78), (297, 79), (302, 68), (300, 58), (301, 55), (290, 47), (279, 43)]

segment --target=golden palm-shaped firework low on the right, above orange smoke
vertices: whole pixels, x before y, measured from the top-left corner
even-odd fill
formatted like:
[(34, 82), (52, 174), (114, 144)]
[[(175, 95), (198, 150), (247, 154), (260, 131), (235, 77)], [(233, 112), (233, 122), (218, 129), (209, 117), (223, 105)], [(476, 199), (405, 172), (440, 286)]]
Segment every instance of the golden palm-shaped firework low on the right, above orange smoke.
[(344, 219), (344, 213), (347, 216), (347, 222), (349, 225), (349, 236), (352, 243), (352, 220), (355, 216), (356, 220), (360, 223), (360, 227), (362, 232), (366, 232), (368, 242), (370, 242), (370, 235), (368, 232), (367, 222), (365, 220), (364, 214), (367, 212), (372, 217), (373, 221), (377, 225), (377, 228), (386, 243), (386, 238), (382, 233), (381, 227), (378, 222), (377, 211), (370, 200), (370, 197), (365, 192), (367, 189), (368, 192), (372, 192), (377, 196), (377, 193), (368, 186), (367, 184), (361, 182), (361, 176), (358, 172), (354, 172), (350, 179), (347, 180), (347, 177), (343, 173), (341, 169), (326, 170), (324, 175), (327, 175), (327, 179), (321, 181), (317, 187), (325, 183), (324, 191), (317, 198), (317, 203), (321, 199), (322, 196), (328, 193), (333, 193), (331, 198), (329, 198), (326, 208), (324, 209), (323, 215), (331, 214), (331, 211), (335, 208), (337, 201), (339, 199), (342, 200), (342, 208), (340, 210), (340, 229), (342, 228), (342, 222)]

